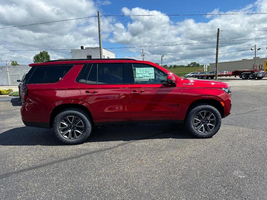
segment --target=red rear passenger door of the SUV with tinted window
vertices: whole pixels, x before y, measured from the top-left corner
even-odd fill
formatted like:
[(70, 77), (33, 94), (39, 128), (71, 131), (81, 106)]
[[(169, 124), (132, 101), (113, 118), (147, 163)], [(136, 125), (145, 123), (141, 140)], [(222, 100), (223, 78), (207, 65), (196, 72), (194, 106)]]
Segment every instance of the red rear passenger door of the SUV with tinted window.
[(129, 121), (130, 84), (127, 63), (89, 63), (78, 77), (81, 95), (95, 122)]

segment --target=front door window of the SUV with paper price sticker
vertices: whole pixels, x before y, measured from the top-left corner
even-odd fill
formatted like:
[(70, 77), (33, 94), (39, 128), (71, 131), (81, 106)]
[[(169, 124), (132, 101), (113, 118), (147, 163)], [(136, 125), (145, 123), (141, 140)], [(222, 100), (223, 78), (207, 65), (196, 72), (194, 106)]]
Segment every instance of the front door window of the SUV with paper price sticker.
[(167, 83), (167, 74), (151, 65), (133, 63), (135, 83)]

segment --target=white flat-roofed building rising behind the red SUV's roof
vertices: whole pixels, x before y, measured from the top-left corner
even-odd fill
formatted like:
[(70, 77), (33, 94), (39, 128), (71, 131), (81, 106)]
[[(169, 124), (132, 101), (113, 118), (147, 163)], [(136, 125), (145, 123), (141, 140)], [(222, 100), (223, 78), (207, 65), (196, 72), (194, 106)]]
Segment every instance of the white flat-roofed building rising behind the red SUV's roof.
[[(115, 53), (103, 49), (103, 59), (115, 58)], [(100, 59), (99, 47), (85, 47), (71, 50), (72, 59)]]

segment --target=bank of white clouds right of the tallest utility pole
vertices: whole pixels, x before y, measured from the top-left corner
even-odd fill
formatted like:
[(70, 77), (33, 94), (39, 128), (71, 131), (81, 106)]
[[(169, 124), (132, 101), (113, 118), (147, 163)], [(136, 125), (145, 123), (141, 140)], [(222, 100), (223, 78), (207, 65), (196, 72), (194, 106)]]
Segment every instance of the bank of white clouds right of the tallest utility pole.
[[(214, 9), (210, 14), (217, 13), (245, 13), (245, 12), (265, 12), (267, 7), (266, 1), (256, 1), (254, 4), (244, 5), (239, 10), (229, 10), (222, 12), (219, 9)], [(267, 24), (264, 22), (267, 20), (266, 14), (258, 15), (220, 15), (209, 17), (208, 22), (196, 22), (194, 19), (184, 19), (180, 22), (174, 23), (172, 18), (166, 16), (159, 11), (145, 10), (140, 7), (129, 9), (127, 7), (122, 8), (124, 15), (156, 15), (156, 16), (131, 16), (131, 22), (128, 22), (127, 26), (120, 24), (119, 28), (113, 32), (113, 38), (110, 39), (113, 43), (120, 43), (127, 46), (145, 46), (149, 44), (183, 44), (183, 43), (196, 43), (204, 42), (203, 44), (191, 44), (191, 45), (177, 45), (177, 46), (160, 46), (160, 47), (144, 47), (146, 53), (146, 60), (155, 62), (160, 61), (161, 55), (164, 55), (165, 64), (187, 64), (191, 61), (197, 61), (199, 63), (211, 63), (215, 62), (215, 55), (209, 55), (214, 53), (216, 48), (215, 34), (217, 28), (221, 30), (267, 30)], [(158, 16), (157, 16), (158, 15)], [(196, 18), (197, 19), (197, 18)], [(254, 32), (221, 32), (220, 41), (247, 39), (267, 37), (267, 31), (254, 31)], [(207, 35), (214, 35), (212, 37), (205, 37), (199, 39), (186, 40), (190, 38), (198, 38)], [(186, 41), (182, 41), (186, 40)], [(170, 43), (173, 41), (182, 41), (176, 43)], [(214, 42), (214, 43), (205, 43)], [(220, 61), (235, 60), (241, 58), (253, 57), (253, 52), (249, 49), (254, 44), (267, 46), (266, 39), (258, 40), (244, 40), (244, 41), (229, 41), (220, 42)], [(164, 45), (164, 44), (163, 44)], [(244, 49), (240, 49), (244, 48)], [(136, 56), (141, 59), (139, 55), (140, 48), (130, 49), (131, 52), (135, 52)], [(236, 49), (236, 50), (231, 50)], [(245, 50), (241, 52), (240, 50)], [(233, 52), (232, 52), (233, 51)], [(234, 52), (236, 51), (236, 52)], [(264, 56), (267, 54), (266, 49), (262, 52), (257, 52), (258, 55)], [(211, 52), (211, 53), (210, 53)], [(227, 53), (228, 52), (228, 53)], [(229, 53), (232, 52), (232, 53)], [(205, 56), (199, 57), (199, 54), (205, 54)], [(187, 57), (184, 59), (183, 58)], [(264, 56), (265, 57), (265, 56)], [(171, 60), (176, 58), (176, 60)]]

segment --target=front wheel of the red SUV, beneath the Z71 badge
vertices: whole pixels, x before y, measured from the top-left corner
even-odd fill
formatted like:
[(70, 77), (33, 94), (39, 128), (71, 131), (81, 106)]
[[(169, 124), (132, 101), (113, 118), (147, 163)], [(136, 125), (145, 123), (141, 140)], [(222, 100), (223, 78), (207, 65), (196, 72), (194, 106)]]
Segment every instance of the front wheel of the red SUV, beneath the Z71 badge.
[[(206, 115), (204, 114), (204, 111), (205, 111)], [(199, 120), (200, 122), (198, 122), (195, 119), (198, 118), (197, 116), (200, 116), (199, 115), (200, 112), (202, 113), (202, 115), (204, 115), (204, 117), (205, 116), (208, 117), (208, 115), (210, 115), (209, 113), (213, 114), (210, 116), (211, 120), (209, 120), (209, 121), (207, 120), (206, 121), (207, 123), (205, 122), (202, 125), (198, 124), (198, 123), (201, 123), (202, 121)], [(213, 118), (215, 120), (213, 120)], [(205, 118), (204, 118), (204, 120), (205, 120)], [(189, 110), (189, 112), (186, 116), (186, 119), (185, 119), (185, 126), (186, 126), (186, 129), (188, 130), (188, 132), (191, 133), (192, 135), (194, 135), (195, 137), (208, 138), (208, 137), (212, 137), (213, 135), (215, 135), (219, 131), (219, 129), (221, 127), (221, 123), (222, 123), (221, 120), (222, 120), (221, 114), (215, 107), (213, 107), (212, 105), (209, 105), (209, 104), (198, 104), (198, 105), (195, 105), (194, 107), (192, 107), (191, 110)], [(195, 127), (194, 123), (195, 123), (195, 126), (199, 125), (201, 127), (203, 126), (204, 128), (200, 127), (200, 129), (199, 129), (200, 131), (197, 131), (198, 127)], [(207, 126), (206, 124), (210, 124), (210, 125)], [(206, 131), (206, 129), (208, 132)], [(201, 133), (201, 131), (203, 133)]]

